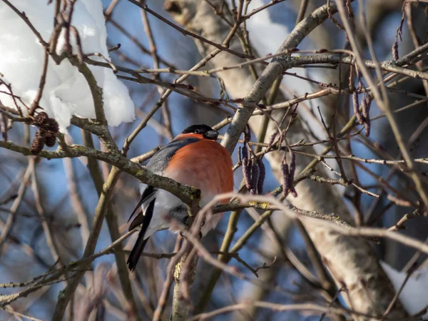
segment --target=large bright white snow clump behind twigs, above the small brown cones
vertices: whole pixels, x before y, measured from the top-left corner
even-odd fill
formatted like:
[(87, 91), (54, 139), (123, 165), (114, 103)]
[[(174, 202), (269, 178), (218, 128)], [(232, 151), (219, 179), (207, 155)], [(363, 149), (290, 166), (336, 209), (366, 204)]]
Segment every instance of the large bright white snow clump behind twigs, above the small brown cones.
[[(49, 41), (54, 25), (54, 4), (46, 0), (14, 0), (12, 4), (24, 11), (31, 24)], [(101, 0), (79, 0), (74, 6), (72, 24), (81, 38), (83, 54), (99, 52), (109, 59), (106, 45), (106, 24)], [(58, 39), (62, 48), (63, 37)], [(76, 52), (76, 39), (71, 36), (71, 45)], [(44, 48), (24, 21), (9, 6), (0, 2), (0, 74), (6, 83), (11, 83), (14, 94), (29, 106), (39, 88)], [(93, 60), (103, 61), (92, 56)], [(59, 66), (49, 58), (46, 85), (39, 105), (49, 116), (56, 118), (61, 131), (70, 125), (73, 115), (95, 118), (91, 92), (85, 78), (67, 60)], [(134, 105), (128, 88), (116, 78), (109, 68), (89, 66), (98, 86), (103, 88), (104, 111), (111, 126), (133, 121)], [(6, 91), (0, 86), (1, 91)], [(11, 96), (0, 93), (0, 101), (14, 108)]]

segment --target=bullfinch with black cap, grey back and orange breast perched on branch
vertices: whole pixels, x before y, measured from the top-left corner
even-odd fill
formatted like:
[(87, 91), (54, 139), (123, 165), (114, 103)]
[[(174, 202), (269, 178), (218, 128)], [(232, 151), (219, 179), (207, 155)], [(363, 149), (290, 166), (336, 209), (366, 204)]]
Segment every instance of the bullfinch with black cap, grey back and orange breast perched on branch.
[[(218, 131), (205, 124), (185, 128), (173, 141), (159, 149), (146, 165), (148, 170), (201, 191), (200, 205), (207, 205), (215, 195), (233, 191), (233, 163), (230, 153), (217, 142)], [(228, 203), (220, 200), (218, 203)], [(135, 270), (148, 238), (169, 227), (168, 218), (181, 223), (188, 219), (188, 208), (175, 195), (141, 183), (141, 198), (131, 213), (128, 230), (141, 225), (128, 268)], [(201, 227), (201, 236), (215, 228), (223, 213), (209, 215)]]

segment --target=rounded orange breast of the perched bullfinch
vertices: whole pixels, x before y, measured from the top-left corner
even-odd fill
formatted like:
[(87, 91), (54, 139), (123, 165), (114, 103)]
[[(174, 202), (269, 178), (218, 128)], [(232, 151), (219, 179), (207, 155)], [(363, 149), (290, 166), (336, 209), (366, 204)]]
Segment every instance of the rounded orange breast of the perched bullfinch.
[[(233, 164), (228, 151), (216, 141), (202, 140), (180, 148), (164, 175), (195, 186), (204, 195), (233, 191)], [(223, 200), (220, 203), (228, 203)]]

